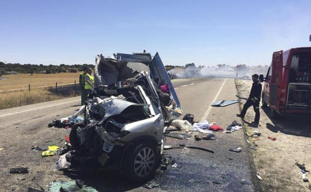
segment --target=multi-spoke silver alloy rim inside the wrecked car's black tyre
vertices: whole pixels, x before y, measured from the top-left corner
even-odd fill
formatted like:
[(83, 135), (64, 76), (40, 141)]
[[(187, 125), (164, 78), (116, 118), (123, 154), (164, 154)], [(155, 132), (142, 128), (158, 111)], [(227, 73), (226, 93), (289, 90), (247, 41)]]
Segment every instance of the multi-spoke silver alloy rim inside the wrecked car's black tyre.
[(135, 174), (139, 177), (146, 177), (155, 166), (155, 152), (149, 148), (143, 148), (134, 161)]

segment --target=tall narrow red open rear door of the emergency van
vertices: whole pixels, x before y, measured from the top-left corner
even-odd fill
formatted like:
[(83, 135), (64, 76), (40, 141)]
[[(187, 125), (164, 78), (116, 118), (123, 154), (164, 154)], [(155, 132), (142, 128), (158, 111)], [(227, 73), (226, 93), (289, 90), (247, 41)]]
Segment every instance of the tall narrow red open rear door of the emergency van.
[(270, 106), (272, 108), (279, 108), (280, 94), (283, 73), (283, 51), (277, 51), (272, 56), (272, 74), (270, 83)]

